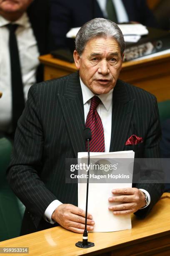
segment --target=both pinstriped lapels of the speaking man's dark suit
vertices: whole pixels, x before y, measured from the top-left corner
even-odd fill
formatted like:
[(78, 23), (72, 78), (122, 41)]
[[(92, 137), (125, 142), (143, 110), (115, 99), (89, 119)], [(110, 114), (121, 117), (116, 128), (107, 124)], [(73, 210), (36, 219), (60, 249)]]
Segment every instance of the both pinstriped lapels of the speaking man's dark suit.
[[(77, 157), (77, 152), (86, 151), (83, 139), (83, 129), (85, 128), (84, 107), (79, 74), (72, 74), (72, 77), (66, 80), (66, 83), (65, 92), (57, 96), (70, 142), (75, 157)], [(120, 80), (117, 80), (113, 90), (110, 152), (125, 150), (125, 142), (128, 139), (135, 100), (129, 100), (125, 86)]]

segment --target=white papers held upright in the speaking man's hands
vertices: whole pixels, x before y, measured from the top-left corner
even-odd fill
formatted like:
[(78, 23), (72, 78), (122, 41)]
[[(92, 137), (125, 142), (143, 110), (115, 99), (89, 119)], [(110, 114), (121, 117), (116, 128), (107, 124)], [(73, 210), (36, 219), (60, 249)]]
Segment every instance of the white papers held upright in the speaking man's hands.
[[(135, 153), (133, 151), (119, 151), (109, 153), (90, 153), (90, 162), (92, 159), (125, 159), (134, 160)], [(83, 162), (83, 158), (87, 159), (87, 152), (78, 153), (78, 161)], [(106, 161), (106, 160), (104, 160)], [(133, 166), (132, 166), (133, 169)], [(133, 173), (133, 170), (131, 170)], [(100, 179), (99, 179), (100, 182)], [(95, 221), (94, 232), (112, 232), (118, 230), (131, 229), (131, 217), (129, 215), (113, 215), (108, 209), (110, 205), (115, 203), (109, 202), (108, 198), (112, 197), (112, 189), (132, 187), (130, 183), (89, 183), (88, 194), (88, 212), (92, 214)], [(86, 205), (86, 183), (78, 183), (78, 207), (85, 210)], [(117, 203), (116, 203), (117, 204)]]

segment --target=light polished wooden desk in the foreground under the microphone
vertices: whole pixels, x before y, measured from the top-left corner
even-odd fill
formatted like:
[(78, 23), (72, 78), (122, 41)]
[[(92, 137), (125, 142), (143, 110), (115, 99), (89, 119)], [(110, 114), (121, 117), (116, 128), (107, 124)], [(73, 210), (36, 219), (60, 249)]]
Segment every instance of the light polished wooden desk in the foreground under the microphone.
[[(81, 234), (62, 227), (50, 228), (0, 243), (0, 247), (29, 247), (30, 256), (170, 255), (170, 193), (164, 193), (152, 212), (144, 220), (132, 216), (132, 229), (110, 233), (90, 233), (95, 246), (81, 249), (75, 246)], [(27, 255), (27, 254), (20, 254)]]

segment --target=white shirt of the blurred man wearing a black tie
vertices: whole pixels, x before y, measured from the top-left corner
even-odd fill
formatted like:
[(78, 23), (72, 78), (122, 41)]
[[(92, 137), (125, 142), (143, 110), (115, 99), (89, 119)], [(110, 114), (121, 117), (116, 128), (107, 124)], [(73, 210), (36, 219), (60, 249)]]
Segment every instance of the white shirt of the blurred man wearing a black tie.
[[(9, 30), (5, 26), (9, 23), (9, 20), (5, 20), (5, 18), (0, 16), (0, 91), (3, 93), (0, 99), (0, 131), (4, 132), (11, 132), (12, 120), (10, 51), (8, 47)], [(26, 101), (30, 86), (36, 82), (36, 70), (39, 64), (38, 57), (40, 54), (27, 13), (24, 13), (13, 24), (19, 25), (15, 34), (18, 43), (23, 90)]]

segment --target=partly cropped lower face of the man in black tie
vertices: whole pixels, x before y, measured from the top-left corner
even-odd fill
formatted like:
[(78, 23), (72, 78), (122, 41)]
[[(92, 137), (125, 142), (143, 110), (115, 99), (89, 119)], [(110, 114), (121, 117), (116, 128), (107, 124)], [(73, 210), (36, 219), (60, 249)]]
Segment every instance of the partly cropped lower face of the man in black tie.
[(0, 0), (0, 13), (24, 12), (33, 0)]

